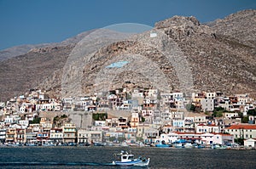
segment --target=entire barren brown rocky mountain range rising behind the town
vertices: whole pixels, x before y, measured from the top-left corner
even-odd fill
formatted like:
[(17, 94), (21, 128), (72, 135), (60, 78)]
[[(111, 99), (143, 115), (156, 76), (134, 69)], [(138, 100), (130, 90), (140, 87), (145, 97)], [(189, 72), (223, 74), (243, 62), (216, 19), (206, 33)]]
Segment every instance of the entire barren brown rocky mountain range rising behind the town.
[(137, 35), (90, 31), (0, 62), (0, 97), (32, 87), (61, 97), (124, 86), (256, 96), (255, 24), (255, 10), (245, 10), (206, 25), (174, 16)]

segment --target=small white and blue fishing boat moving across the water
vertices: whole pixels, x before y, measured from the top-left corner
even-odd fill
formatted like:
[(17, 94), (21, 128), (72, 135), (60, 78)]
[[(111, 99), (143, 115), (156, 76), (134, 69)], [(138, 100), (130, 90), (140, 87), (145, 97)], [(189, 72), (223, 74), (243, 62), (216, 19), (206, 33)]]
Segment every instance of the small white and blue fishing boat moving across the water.
[(113, 161), (113, 165), (116, 166), (148, 166), (150, 161), (150, 158), (134, 158), (134, 155), (124, 151), (121, 151), (119, 154), (114, 154), (114, 156), (115, 160)]

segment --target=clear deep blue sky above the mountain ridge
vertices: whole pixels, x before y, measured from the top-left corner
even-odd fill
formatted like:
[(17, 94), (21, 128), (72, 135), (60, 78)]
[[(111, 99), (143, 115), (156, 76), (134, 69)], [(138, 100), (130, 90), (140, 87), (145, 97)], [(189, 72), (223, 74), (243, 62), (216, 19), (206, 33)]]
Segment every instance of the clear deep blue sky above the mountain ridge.
[(224, 18), (255, 0), (0, 0), (0, 49), (61, 42), (80, 32), (119, 23), (154, 26), (173, 15), (201, 22)]

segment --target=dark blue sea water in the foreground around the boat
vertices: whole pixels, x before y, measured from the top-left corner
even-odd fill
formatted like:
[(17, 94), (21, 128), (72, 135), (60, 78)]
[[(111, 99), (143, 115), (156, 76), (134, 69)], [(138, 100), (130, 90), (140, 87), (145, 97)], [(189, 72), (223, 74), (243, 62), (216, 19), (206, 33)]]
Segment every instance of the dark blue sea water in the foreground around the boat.
[[(1, 147), (0, 168), (131, 168), (109, 166), (121, 147)], [(148, 168), (256, 168), (256, 150), (130, 148)], [(134, 167), (132, 167), (134, 168)], [(137, 168), (137, 167), (136, 167)]]

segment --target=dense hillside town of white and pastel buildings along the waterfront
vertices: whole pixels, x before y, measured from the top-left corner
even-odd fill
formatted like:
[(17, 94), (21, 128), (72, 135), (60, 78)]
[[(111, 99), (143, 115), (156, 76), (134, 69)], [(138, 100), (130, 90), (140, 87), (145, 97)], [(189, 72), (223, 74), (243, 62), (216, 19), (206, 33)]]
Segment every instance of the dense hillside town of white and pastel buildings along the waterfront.
[(49, 98), (31, 89), (0, 103), (0, 143), (255, 148), (256, 100), (249, 94), (161, 93), (128, 87)]

